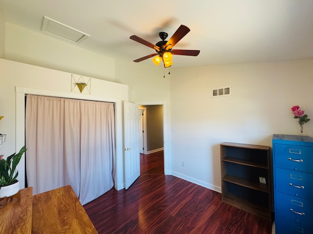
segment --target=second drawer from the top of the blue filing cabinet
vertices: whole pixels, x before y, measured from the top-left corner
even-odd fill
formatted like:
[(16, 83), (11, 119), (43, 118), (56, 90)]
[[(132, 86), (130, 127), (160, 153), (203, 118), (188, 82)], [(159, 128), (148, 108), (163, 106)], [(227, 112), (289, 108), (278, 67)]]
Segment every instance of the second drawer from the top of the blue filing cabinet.
[(275, 191), (313, 200), (313, 174), (275, 168)]

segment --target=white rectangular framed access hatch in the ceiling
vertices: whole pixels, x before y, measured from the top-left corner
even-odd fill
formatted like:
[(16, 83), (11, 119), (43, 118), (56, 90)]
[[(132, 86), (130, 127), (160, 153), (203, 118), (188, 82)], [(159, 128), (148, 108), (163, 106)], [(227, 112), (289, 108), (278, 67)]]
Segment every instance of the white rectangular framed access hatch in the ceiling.
[(76, 43), (79, 43), (90, 37), (90, 35), (87, 33), (83, 33), (75, 28), (69, 27), (56, 20), (52, 20), (46, 16), (44, 16), (41, 31)]

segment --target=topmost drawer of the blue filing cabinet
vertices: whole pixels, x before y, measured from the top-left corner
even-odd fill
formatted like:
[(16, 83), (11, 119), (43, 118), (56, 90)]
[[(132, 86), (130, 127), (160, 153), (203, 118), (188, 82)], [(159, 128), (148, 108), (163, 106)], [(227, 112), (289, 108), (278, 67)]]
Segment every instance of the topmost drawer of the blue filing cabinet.
[(274, 165), (313, 173), (313, 147), (274, 144)]

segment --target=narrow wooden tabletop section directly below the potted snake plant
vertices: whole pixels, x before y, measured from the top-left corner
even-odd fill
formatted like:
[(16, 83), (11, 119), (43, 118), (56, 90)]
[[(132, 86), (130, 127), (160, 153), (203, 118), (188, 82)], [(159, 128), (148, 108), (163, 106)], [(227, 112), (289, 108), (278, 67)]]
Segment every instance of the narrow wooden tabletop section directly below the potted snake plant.
[(0, 202), (0, 233), (28, 234), (31, 232), (33, 188), (19, 191), (18, 196)]

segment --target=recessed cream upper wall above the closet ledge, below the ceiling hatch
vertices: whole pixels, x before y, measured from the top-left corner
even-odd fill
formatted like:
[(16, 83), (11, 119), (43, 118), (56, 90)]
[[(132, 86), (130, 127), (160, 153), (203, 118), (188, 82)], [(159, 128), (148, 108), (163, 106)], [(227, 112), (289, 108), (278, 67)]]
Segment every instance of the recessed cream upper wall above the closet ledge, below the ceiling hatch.
[(8, 22), (5, 25), (4, 59), (114, 81), (114, 59)]

